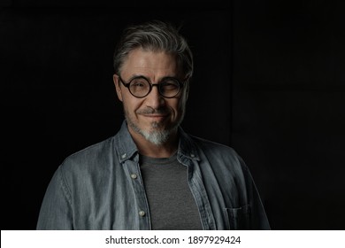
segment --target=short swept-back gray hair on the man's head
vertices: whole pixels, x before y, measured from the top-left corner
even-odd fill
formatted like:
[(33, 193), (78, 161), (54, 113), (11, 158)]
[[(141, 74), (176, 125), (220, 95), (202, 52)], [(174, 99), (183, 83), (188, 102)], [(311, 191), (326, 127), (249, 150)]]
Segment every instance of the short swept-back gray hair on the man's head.
[(114, 52), (115, 74), (119, 74), (124, 60), (131, 50), (165, 51), (177, 58), (180, 72), (188, 80), (193, 74), (193, 55), (187, 40), (171, 23), (160, 20), (126, 27)]

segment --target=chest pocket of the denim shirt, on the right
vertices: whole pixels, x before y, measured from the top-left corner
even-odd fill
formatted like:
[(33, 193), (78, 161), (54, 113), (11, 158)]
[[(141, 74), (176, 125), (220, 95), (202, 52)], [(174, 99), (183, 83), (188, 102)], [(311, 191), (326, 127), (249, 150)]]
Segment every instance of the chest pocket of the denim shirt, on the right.
[(238, 208), (226, 208), (226, 214), (229, 221), (229, 229), (250, 229), (250, 205), (243, 205)]

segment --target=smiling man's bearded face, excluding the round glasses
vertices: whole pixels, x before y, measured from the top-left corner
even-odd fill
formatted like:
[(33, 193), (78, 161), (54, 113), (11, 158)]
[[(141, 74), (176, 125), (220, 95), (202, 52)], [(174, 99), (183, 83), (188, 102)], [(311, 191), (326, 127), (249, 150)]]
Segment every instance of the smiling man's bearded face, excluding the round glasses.
[[(151, 83), (158, 83), (165, 77), (182, 80), (173, 55), (142, 49), (132, 50), (121, 67), (123, 81), (127, 83), (134, 76), (144, 76)], [(173, 98), (159, 95), (157, 87), (153, 87), (147, 97), (137, 98), (119, 81), (119, 75), (114, 75), (114, 83), (132, 136), (139, 134), (158, 145), (176, 134), (188, 97), (185, 86)]]

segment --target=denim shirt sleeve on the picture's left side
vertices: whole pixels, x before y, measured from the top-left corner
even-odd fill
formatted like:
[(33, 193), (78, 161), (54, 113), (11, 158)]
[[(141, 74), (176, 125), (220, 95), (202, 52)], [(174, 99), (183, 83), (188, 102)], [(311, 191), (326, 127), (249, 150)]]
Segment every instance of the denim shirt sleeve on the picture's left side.
[(71, 193), (65, 183), (62, 167), (58, 167), (44, 195), (37, 230), (73, 229)]

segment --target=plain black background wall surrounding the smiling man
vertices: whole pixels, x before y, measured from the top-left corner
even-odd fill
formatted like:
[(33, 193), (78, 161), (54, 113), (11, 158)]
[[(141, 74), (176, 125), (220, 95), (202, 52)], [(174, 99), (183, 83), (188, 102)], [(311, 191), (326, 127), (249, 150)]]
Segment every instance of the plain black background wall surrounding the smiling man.
[(149, 19), (194, 51), (183, 128), (238, 151), (272, 229), (345, 229), (341, 1), (113, 2), (1, 2), (1, 229), (35, 229), (63, 159), (116, 134), (112, 52)]

